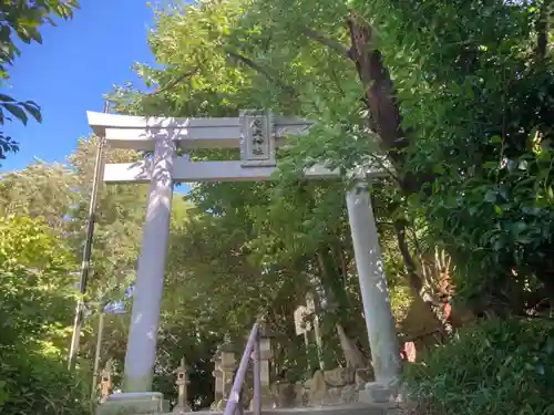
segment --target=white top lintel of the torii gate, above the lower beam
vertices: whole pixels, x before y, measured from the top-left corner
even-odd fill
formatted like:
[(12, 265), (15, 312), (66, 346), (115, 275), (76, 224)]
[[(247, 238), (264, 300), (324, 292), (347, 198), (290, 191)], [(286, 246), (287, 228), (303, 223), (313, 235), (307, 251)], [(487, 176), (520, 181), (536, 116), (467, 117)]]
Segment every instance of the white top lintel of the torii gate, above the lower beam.
[(263, 111), (242, 111), (239, 117), (174, 118), (143, 117), (86, 112), (89, 125), (103, 136), (112, 148), (137, 151), (154, 149), (157, 134), (170, 132), (177, 148), (229, 148), (240, 147), (245, 124), (252, 120), (267, 120), (265, 127), (274, 138), (274, 145), (283, 145), (287, 136), (306, 135), (314, 122), (275, 116)]

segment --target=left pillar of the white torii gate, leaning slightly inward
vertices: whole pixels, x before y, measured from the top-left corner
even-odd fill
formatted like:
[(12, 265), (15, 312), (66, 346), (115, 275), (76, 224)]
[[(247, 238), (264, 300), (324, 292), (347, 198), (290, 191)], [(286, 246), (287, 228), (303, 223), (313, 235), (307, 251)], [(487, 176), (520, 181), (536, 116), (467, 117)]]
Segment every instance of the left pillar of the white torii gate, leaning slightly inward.
[(173, 197), (173, 136), (155, 137), (154, 163), (125, 355), (125, 392), (151, 392)]

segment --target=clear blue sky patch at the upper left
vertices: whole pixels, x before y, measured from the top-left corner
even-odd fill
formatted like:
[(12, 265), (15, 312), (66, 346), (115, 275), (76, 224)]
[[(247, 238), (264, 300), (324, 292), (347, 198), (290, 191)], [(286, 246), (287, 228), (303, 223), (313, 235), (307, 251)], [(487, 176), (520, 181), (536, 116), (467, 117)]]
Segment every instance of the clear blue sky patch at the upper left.
[(64, 162), (78, 138), (90, 134), (86, 111), (102, 111), (102, 95), (114, 84), (136, 81), (134, 62), (153, 62), (147, 28), (153, 11), (145, 0), (80, 0), (70, 21), (41, 29), (43, 44), (21, 46), (2, 92), (17, 100), (33, 100), (43, 122), (7, 125), (20, 143), (8, 154), (1, 170), (24, 168), (39, 157)]

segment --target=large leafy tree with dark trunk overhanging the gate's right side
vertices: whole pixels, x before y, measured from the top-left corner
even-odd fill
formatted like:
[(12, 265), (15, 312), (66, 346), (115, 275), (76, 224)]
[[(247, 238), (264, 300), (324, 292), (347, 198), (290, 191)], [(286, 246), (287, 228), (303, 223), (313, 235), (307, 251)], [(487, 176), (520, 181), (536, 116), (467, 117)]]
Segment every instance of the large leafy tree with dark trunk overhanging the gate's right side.
[(140, 73), (160, 89), (119, 90), (120, 108), (219, 115), (248, 105), (318, 121), (289, 148), (289, 174), (387, 155), (394, 173), (382, 200), (408, 281), (434, 311), (451, 294), (429, 279), (429, 269), (449, 279), (442, 249), (476, 312), (522, 311), (552, 289), (547, 2), (237, 0), (157, 19), (151, 44), (165, 69)]

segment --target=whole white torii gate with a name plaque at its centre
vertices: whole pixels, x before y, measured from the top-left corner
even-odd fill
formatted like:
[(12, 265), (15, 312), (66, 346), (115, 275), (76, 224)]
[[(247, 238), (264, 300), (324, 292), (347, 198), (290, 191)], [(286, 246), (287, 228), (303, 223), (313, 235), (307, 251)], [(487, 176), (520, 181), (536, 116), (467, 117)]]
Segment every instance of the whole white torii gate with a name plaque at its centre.
[[(260, 111), (220, 118), (86, 115), (94, 133), (112, 148), (154, 151), (150, 160), (107, 164), (104, 173), (105, 183), (150, 183), (124, 369), (125, 393), (147, 393), (156, 355), (174, 183), (269, 180), (277, 168), (276, 147), (288, 136), (307, 134), (314, 123)], [(176, 155), (176, 149), (229, 147), (240, 148), (240, 160), (194, 163)], [(322, 166), (305, 175), (339, 177)], [(378, 175), (382, 172), (368, 170), (360, 179)], [(399, 349), (371, 201), (361, 180), (347, 191), (346, 200), (376, 381), (388, 386), (400, 371)]]

